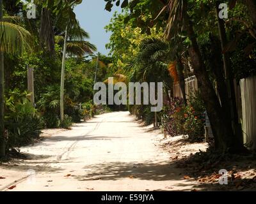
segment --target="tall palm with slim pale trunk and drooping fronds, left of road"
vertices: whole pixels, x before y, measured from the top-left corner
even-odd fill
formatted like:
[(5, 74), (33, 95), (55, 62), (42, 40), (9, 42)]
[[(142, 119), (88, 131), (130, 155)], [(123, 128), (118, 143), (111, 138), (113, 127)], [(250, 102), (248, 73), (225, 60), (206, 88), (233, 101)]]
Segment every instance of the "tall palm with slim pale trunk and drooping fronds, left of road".
[[(88, 51), (88, 47), (85, 46), (86, 43), (83, 42), (84, 38), (88, 36), (88, 34), (81, 29), (79, 23), (76, 20), (76, 14), (74, 13), (74, 6), (77, 4), (81, 4), (82, 0), (65, 0), (65, 1), (47, 1), (42, 4), (40, 0), (35, 0), (34, 3), (42, 5), (42, 21), (41, 21), (41, 36), (47, 48), (51, 51), (54, 45), (54, 35), (53, 35), (53, 27), (51, 15), (55, 15), (56, 24), (58, 24), (58, 29), (61, 31), (65, 31), (65, 37), (63, 42), (63, 59), (61, 65), (61, 85), (60, 85), (60, 119), (61, 122), (64, 119), (64, 82), (65, 82), (65, 61), (67, 55), (67, 48), (70, 50), (76, 44), (76, 54), (81, 55), (82, 51)], [(44, 31), (46, 33), (44, 33)], [(68, 46), (68, 40), (71, 40), (70, 37), (73, 37), (72, 40), (76, 40), (73, 42), (72, 47)], [(74, 38), (75, 36), (75, 38)], [(80, 46), (78, 46), (80, 45)], [(79, 47), (79, 48), (78, 48)], [(78, 49), (77, 49), (78, 48)], [(91, 47), (92, 48), (92, 47)], [(90, 49), (89, 49), (90, 50)]]

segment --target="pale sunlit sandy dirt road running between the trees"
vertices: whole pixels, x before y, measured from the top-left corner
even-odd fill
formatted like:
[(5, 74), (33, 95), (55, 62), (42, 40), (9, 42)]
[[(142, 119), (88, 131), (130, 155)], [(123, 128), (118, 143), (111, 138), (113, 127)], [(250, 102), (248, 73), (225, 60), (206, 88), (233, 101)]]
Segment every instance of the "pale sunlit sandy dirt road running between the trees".
[(98, 115), (21, 148), (28, 159), (0, 165), (0, 190), (191, 191), (196, 181), (184, 180), (159, 138), (128, 112)]

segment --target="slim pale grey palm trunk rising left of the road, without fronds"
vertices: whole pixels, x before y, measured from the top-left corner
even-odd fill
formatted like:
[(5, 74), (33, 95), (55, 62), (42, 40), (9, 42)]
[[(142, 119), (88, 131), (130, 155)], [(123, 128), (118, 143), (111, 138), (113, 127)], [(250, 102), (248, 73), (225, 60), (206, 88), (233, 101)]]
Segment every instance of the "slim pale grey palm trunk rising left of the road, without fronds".
[(62, 66), (61, 66), (61, 84), (60, 84), (60, 120), (61, 122), (64, 119), (64, 82), (65, 82), (65, 62), (66, 62), (66, 53), (67, 53), (67, 38), (68, 38), (68, 25), (65, 30), (65, 39), (64, 39)]

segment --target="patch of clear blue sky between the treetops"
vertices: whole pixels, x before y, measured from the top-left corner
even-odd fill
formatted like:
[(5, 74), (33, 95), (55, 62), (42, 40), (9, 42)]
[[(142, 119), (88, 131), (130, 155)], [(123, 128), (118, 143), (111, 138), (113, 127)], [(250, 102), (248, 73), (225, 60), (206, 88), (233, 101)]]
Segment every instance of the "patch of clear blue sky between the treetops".
[(83, 0), (83, 3), (76, 6), (75, 12), (81, 27), (90, 34), (89, 41), (97, 46), (98, 52), (108, 55), (105, 45), (111, 33), (106, 33), (104, 27), (109, 24), (115, 11), (121, 12), (121, 8), (113, 6), (109, 12), (104, 10), (105, 4), (104, 0)]

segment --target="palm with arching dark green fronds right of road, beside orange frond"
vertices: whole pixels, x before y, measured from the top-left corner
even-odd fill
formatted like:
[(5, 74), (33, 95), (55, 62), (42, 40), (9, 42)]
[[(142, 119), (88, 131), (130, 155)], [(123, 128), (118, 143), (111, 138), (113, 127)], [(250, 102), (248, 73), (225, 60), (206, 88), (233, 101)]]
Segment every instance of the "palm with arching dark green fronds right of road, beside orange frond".
[[(169, 44), (156, 38), (145, 39), (141, 42), (140, 52), (128, 66), (130, 80), (164, 82), (164, 90), (167, 93), (172, 82), (168, 74), (168, 62), (170, 62)], [(158, 128), (157, 112), (154, 114), (154, 127)]]

